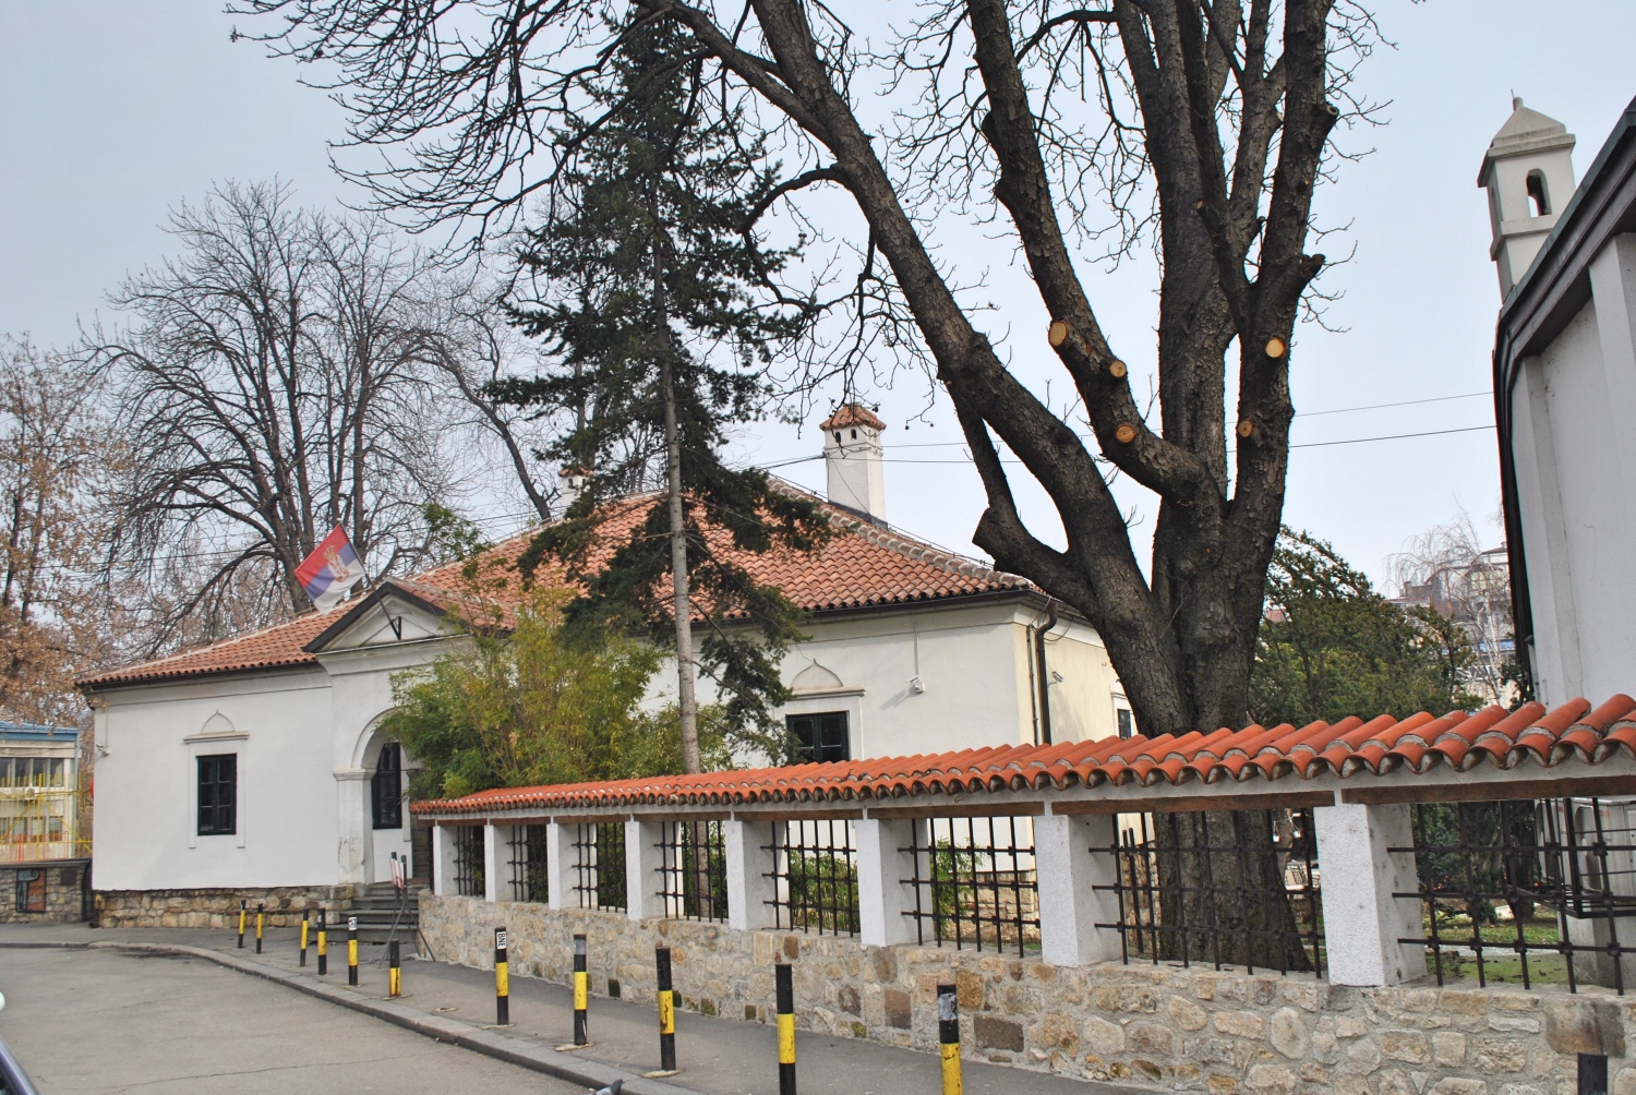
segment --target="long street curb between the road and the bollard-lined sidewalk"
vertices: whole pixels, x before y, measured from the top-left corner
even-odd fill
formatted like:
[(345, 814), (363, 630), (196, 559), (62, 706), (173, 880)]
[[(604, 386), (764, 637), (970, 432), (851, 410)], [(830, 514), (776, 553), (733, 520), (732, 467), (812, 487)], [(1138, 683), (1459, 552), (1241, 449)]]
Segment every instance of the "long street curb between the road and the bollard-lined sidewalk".
[(427, 1015), (425, 1012), (417, 1012), (416, 1008), (406, 1007), (402, 1003), (393, 1003), (389, 1000), (371, 1000), (360, 997), (355, 992), (347, 992), (339, 985), (326, 985), (322, 982), (312, 980), (311, 977), (303, 977), (299, 974), (290, 974), (281, 969), (273, 969), (270, 966), (262, 966), (260, 962), (252, 962), (236, 954), (222, 954), (221, 951), (211, 951), (203, 946), (183, 946), (177, 943), (116, 943), (116, 941), (93, 941), (93, 943), (46, 943), (46, 944), (23, 944), (23, 946), (59, 946), (59, 948), (87, 948), (93, 951), (146, 951), (152, 954), (178, 954), (185, 958), (203, 958), (206, 961), (216, 962), (218, 966), (226, 966), (227, 969), (237, 971), (240, 974), (250, 974), (254, 977), (263, 977), (267, 980), (285, 985), (286, 989), (294, 989), (296, 992), (304, 992), (309, 997), (317, 997), (319, 1000), (327, 1000), (329, 1003), (350, 1008), (353, 1012), (362, 1012), (363, 1015), (373, 1015), (378, 1020), (384, 1020), (404, 1030), (414, 1031), (430, 1038), (432, 1041), (450, 1043), (460, 1046), (461, 1049), (470, 1049), (479, 1052), (484, 1057), (494, 1057), (496, 1061), (506, 1061), (507, 1064), (515, 1064), (524, 1069), (532, 1069), (533, 1072), (543, 1072), (546, 1075), (555, 1075), (560, 1080), (568, 1080), (571, 1084), (586, 1084), (592, 1090), (607, 1087), (614, 1080), (625, 1080), (625, 1092), (628, 1095), (700, 1095), (689, 1087), (677, 1087), (674, 1084), (663, 1084), (659, 1080), (648, 1080), (633, 1072), (625, 1072), (623, 1069), (615, 1069), (609, 1064), (597, 1064), (596, 1061), (584, 1061), (571, 1054), (556, 1052), (555, 1049), (535, 1046), (525, 1043), (519, 1038), (510, 1038), (501, 1034), (499, 1031), (486, 1031), (468, 1026), (456, 1020), (440, 1018), (435, 1015)]

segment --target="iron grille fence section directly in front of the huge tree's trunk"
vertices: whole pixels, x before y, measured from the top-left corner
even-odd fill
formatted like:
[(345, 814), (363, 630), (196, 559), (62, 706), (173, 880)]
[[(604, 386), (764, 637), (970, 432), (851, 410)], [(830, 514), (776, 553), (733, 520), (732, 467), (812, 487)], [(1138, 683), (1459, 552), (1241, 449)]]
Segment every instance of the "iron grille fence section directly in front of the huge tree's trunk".
[(1324, 972), (1324, 910), (1309, 810), (1142, 813), (1109, 848), (1122, 959)]

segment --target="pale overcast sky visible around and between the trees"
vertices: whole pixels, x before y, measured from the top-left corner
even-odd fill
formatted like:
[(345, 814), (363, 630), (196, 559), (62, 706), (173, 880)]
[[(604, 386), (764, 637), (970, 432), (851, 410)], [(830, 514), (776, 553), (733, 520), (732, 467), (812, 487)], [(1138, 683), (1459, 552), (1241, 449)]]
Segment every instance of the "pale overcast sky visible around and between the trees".
[[(0, 0), (0, 332), (72, 342), (106, 290), (167, 254), (167, 210), (198, 200), (213, 180), (278, 177), (309, 205), (344, 198), (326, 154), (340, 113), (299, 87), (291, 65), (229, 43), (232, 20), (218, 7)], [(1482, 152), (1515, 92), (1577, 134), (1574, 165), (1584, 170), (1636, 95), (1636, 3), (1394, 0), (1381, 7), (1381, 25), (1397, 49), (1378, 52), (1360, 80), (1391, 100), (1391, 124), (1353, 136), (1351, 147), (1374, 152), (1343, 164), (1338, 185), (1322, 192), (1320, 214), (1348, 231), (1320, 249), (1335, 259), (1356, 246), (1356, 257), (1324, 282), (1345, 293), (1330, 313), (1345, 331), (1306, 326), (1296, 336), (1299, 447), (1286, 511), (1291, 525), (1333, 540), (1378, 579), (1405, 538), (1461, 507), (1499, 543), (1492, 430), (1324, 442), (1492, 422), (1485, 393), (1500, 298), (1476, 188)], [(991, 334), (1006, 339), (1019, 368), (1044, 360), (1045, 318), (1009, 252), (982, 236), (951, 241), (967, 268), (990, 275)], [(1142, 376), (1153, 357), (1150, 273), (1091, 270), (1086, 280), (1116, 352)], [(959, 435), (946, 401), (928, 414), (934, 426), (905, 429), (926, 406), (926, 386), (906, 380), (870, 394), (893, 426), (887, 516), (975, 553), (969, 537), (982, 491), (949, 444)], [(1418, 399), (1438, 401), (1328, 414)], [(810, 427), (767, 426), (746, 430), (738, 448), (766, 463), (815, 453), (818, 439)], [(823, 488), (821, 463), (779, 473)], [(1044, 499), (1024, 496), (1031, 517), (1052, 524)], [(1139, 529), (1150, 525), (1145, 499), (1129, 501)], [(491, 512), (507, 509), (496, 502)]]

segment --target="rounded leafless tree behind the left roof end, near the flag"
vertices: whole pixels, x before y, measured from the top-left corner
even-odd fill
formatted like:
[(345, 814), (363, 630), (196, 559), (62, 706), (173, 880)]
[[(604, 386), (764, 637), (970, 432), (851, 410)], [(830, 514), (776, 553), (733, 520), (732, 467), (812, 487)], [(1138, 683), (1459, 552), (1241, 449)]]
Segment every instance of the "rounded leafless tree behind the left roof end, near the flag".
[(159, 643), (242, 625), (247, 591), (257, 622), (304, 607), (296, 566), (337, 524), (371, 575), (412, 565), (456, 491), (424, 255), (278, 185), (218, 187), (170, 231), (182, 254), (110, 296), (129, 329), (88, 336), (133, 448), (111, 560), (178, 593)]

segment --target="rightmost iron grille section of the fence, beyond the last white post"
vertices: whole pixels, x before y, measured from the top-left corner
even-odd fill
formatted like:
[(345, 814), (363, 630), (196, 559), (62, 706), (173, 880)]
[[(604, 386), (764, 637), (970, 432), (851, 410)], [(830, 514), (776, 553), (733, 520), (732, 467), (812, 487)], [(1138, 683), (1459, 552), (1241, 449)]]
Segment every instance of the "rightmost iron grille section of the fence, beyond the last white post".
[[(1636, 964), (1636, 799), (1428, 802), (1412, 809), (1420, 944), (1441, 985), (1584, 982), (1625, 994)], [(1621, 928), (1620, 925), (1625, 923)]]

